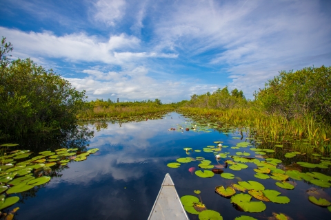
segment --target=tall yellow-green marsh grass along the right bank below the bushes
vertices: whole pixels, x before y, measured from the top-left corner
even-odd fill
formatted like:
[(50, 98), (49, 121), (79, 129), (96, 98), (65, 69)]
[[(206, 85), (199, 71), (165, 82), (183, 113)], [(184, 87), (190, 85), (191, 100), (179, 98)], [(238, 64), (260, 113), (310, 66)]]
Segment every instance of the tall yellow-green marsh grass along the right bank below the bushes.
[(314, 120), (312, 115), (287, 120), (280, 115), (270, 115), (256, 109), (203, 109), (181, 107), (179, 112), (187, 116), (198, 116), (220, 120), (237, 127), (248, 127), (251, 135), (263, 137), (264, 142), (291, 144), (293, 150), (301, 153), (330, 155), (330, 124)]

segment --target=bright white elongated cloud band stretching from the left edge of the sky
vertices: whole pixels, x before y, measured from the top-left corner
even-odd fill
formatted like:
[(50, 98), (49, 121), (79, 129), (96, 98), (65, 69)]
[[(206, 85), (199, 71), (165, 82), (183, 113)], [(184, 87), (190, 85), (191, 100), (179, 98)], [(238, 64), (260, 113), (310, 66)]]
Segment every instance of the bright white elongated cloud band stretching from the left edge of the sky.
[[(72, 62), (101, 62), (124, 65), (141, 58), (176, 58), (177, 54), (158, 54), (156, 52), (133, 52), (141, 50), (141, 41), (135, 36), (119, 34), (110, 36), (106, 42), (97, 36), (85, 33), (56, 36), (52, 32), (22, 32), (0, 27), (3, 36), (17, 47), (13, 54), (39, 56), (46, 58), (64, 58)], [(25, 58), (25, 57), (23, 57)]]

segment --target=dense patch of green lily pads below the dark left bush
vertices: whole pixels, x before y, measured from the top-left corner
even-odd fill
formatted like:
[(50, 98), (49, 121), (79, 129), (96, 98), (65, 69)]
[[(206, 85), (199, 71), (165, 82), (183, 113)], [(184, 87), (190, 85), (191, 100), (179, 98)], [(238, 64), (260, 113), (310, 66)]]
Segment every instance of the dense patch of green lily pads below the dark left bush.
[[(19, 192), (25, 192), (50, 181), (48, 176), (52, 172), (52, 166), (66, 166), (72, 160), (79, 162), (87, 159), (87, 156), (99, 151), (98, 148), (89, 149), (86, 152), (77, 152), (78, 148), (61, 148), (52, 151), (39, 152), (38, 155), (29, 150), (15, 150), (6, 153), (6, 149), (18, 144), (1, 144), (0, 157), (0, 210), (12, 206), (19, 201), (19, 197), (13, 196)], [(16, 211), (16, 210), (15, 210)]]

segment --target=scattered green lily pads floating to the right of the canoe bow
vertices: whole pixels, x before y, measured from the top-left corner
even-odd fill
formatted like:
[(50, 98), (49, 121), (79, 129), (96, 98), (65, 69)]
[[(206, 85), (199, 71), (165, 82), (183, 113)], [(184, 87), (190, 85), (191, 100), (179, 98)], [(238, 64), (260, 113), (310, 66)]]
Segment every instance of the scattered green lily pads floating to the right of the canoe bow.
[[(252, 164), (250, 166), (256, 166), (254, 171), (254, 177), (257, 179), (274, 179), (276, 180), (275, 184), (279, 188), (284, 188), (286, 190), (292, 190), (296, 186), (293, 184), (292, 181), (288, 181), (289, 179), (294, 180), (303, 180), (309, 182), (310, 184), (314, 184), (321, 188), (330, 188), (331, 187), (331, 177), (325, 175), (323, 173), (318, 172), (306, 172), (302, 173), (299, 170), (290, 170), (286, 169), (281, 159), (269, 157), (268, 154), (274, 153), (274, 149), (262, 149), (262, 148), (255, 148), (252, 146), (250, 142), (239, 142), (236, 146), (232, 146), (231, 148), (234, 150), (238, 149), (246, 149), (245, 151), (241, 152), (238, 151), (231, 155), (229, 152), (221, 153), (220, 151), (222, 148), (226, 148), (228, 146), (221, 146), (219, 144), (221, 142), (214, 142), (217, 144), (216, 146), (207, 146), (203, 148), (203, 152), (205, 153), (213, 153), (217, 158), (221, 159), (221, 161), (230, 168), (230, 170), (242, 170), (248, 168), (248, 164)], [(192, 148), (185, 147), (183, 148), (188, 155), (190, 152), (201, 152), (201, 150), (193, 150)], [(298, 151), (293, 151), (286, 153), (284, 155), (285, 158), (295, 157), (297, 155), (302, 155)], [(321, 155), (314, 155), (315, 157), (321, 157)], [(213, 177), (216, 173), (221, 173), (221, 177), (225, 179), (234, 179), (235, 175), (232, 173), (224, 173), (218, 172), (217, 170), (220, 169), (212, 169), (214, 167), (222, 167), (219, 166), (219, 159), (217, 159), (217, 165), (213, 165), (212, 162), (204, 157), (181, 157), (177, 159), (177, 162), (172, 162), (167, 166), (170, 168), (179, 168), (183, 163), (190, 163), (190, 162), (199, 162), (197, 166), (202, 168), (203, 170), (196, 170), (195, 175), (202, 178), (210, 178)], [(261, 160), (262, 159), (262, 160)], [(297, 165), (307, 167), (307, 168), (328, 168), (331, 165), (331, 158), (330, 157), (321, 157), (320, 164), (312, 164), (309, 162), (297, 162)], [(238, 178), (239, 179), (239, 178)], [(236, 191), (240, 191), (241, 193), (237, 193)], [(248, 192), (245, 194), (243, 192)], [(277, 190), (265, 189), (265, 186), (260, 184), (258, 181), (238, 181), (237, 184), (231, 184), (230, 186), (217, 186), (215, 188), (215, 192), (217, 192), (222, 197), (228, 197), (230, 199), (230, 203), (233, 203), (235, 207), (239, 210), (244, 212), (263, 212), (266, 208), (264, 202), (272, 202), (272, 203), (289, 203), (290, 198), (281, 196), (281, 192)], [(251, 201), (252, 197), (258, 199), (259, 201)], [(308, 197), (309, 201), (318, 205), (318, 206), (325, 206), (328, 207), (328, 210), (331, 212), (331, 203), (330, 201), (319, 198), (317, 199), (313, 195)], [(201, 212), (197, 205), (199, 203), (199, 199), (197, 197), (186, 195), (181, 199), (185, 210), (191, 214), (199, 214), (199, 219), (203, 219), (201, 217), (201, 213), (207, 213), (205, 210)], [(208, 212), (212, 213), (212, 215), (217, 216), (214, 219), (222, 219), (221, 215), (218, 213), (215, 214), (214, 211)], [(286, 214), (274, 213), (274, 218), (282, 219), (282, 217), (287, 217)], [(208, 219), (208, 218), (207, 218)], [(254, 219), (252, 217), (243, 216), (238, 217), (236, 219)], [(285, 218), (285, 219), (289, 219)]]

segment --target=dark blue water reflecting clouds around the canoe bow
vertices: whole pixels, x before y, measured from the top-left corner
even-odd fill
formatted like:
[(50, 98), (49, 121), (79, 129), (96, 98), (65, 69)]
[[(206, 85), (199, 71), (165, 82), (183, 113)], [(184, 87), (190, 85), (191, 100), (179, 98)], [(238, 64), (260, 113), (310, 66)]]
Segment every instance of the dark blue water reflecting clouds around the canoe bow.
[[(238, 179), (223, 179), (220, 175), (203, 179), (194, 173), (192, 175), (188, 169), (194, 166), (199, 170), (198, 161), (168, 168), (166, 164), (176, 162), (179, 157), (188, 157), (184, 147), (202, 149), (213, 145), (214, 141), (235, 146), (245, 140), (245, 136), (243, 140), (234, 140), (234, 134), (226, 136), (218, 131), (168, 131), (185, 120), (177, 113), (171, 116), (121, 126), (108, 124), (106, 129), (95, 131), (89, 148), (99, 148), (99, 151), (86, 161), (68, 164), (69, 168), (59, 172), (61, 177), (53, 177), (45, 186), (26, 193), (24, 203), (13, 206), (20, 207), (15, 219), (147, 219), (165, 173), (170, 173), (180, 197), (194, 195), (193, 190), (201, 190), (203, 203), (208, 209), (220, 212), (223, 219), (234, 219), (244, 214), (267, 219), (272, 212), (285, 213), (292, 219), (331, 219), (327, 208), (308, 201), (305, 191), (313, 185), (296, 181), (294, 190), (279, 188), (274, 179), (255, 178), (255, 164), (248, 163), (249, 168), (240, 171), (228, 168), (225, 172), (233, 173), (243, 181), (259, 181), (267, 189), (278, 190), (290, 198), (290, 203), (264, 202), (267, 209), (263, 212), (240, 212), (232, 206), (230, 199), (214, 192), (215, 186), (228, 186), (237, 183)], [(235, 150), (223, 148), (224, 152), (233, 155)], [(217, 164), (212, 153), (192, 152), (189, 156), (205, 157), (212, 164)], [(331, 197), (330, 189), (325, 192)], [(194, 214), (189, 214), (189, 217), (199, 219)]]

